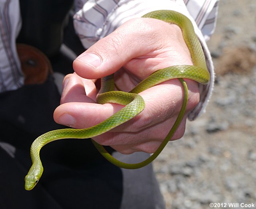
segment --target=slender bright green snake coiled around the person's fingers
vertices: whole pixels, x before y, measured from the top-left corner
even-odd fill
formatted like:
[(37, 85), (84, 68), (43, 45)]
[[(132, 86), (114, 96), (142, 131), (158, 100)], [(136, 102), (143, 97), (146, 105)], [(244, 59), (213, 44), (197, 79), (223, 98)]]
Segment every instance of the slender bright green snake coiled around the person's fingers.
[(160, 154), (168, 141), (172, 138), (174, 132), (178, 128), (184, 116), (186, 105), (188, 102), (188, 88), (183, 78), (192, 79), (194, 81), (197, 81), (198, 83), (206, 84), (209, 81), (210, 75), (206, 67), (204, 53), (198, 37), (194, 33), (192, 23), (186, 16), (170, 10), (158, 10), (144, 15), (143, 18), (155, 18), (168, 23), (177, 24), (182, 29), (183, 38), (188, 46), (188, 49), (190, 50), (194, 65), (175, 65), (160, 69), (152, 73), (152, 75), (139, 83), (129, 93), (123, 91), (114, 91), (115, 84), (113, 75), (103, 77), (101, 79), (101, 89), (97, 95), (97, 102), (99, 104), (122, 104), (125, 105), (124, 108), (122, 108), (103, 122), (90, 128), (66, 128), (60, 130), (52, 130), (36, 138), (36, 140), (34, 140), (34, 142), (32, 143), (30, 149), (32, 166), (25, 177), (26, 190), (33, 189), (36, 183), (38, 183), (40, 177), (42, 176), (43, 166), (40, 160), (39, 152), (44, 145), (48, 144), (49, 142), (64, 138), (85, 139), (103, 134), (111, 130), (112, 128), (115, 128), (116, 126), (119, 126), (120, 124), (123, 124), (124, 122), (134, 118), (144, 109), (144, 100), (140, 95), (138, 95), (138, 93), (164, 81), (170, 79), (179, 79), (184, 91), (181, 110), (178, 114), (178, 117), (176, 118), (176, 122), (174, 123), (173, 127), (171, 128), (170, 132), (168, 133), (160, 147), (148, 159), (135, 164), (120, 162), (119, 160), (112, 157), (103, 146), (96, 143), (94, 140), (92, 140), (92, 142), (96, 146), (98, 151), (102, 154), (102, 156), (104, 156), (114, 165), (126, 169), (136, 169), (146, 166), (150, 162), (152, 162)]

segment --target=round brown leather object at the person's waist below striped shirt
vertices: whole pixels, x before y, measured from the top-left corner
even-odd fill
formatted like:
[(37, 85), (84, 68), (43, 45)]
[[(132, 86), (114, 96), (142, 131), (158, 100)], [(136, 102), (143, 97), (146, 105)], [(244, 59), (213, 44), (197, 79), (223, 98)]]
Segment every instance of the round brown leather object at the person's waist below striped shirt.
[(49, 59), (39, 49), (30, 45), (18, 43), (17, 52), (24, 73), (25, 85), (44, 83), (52, 66)]

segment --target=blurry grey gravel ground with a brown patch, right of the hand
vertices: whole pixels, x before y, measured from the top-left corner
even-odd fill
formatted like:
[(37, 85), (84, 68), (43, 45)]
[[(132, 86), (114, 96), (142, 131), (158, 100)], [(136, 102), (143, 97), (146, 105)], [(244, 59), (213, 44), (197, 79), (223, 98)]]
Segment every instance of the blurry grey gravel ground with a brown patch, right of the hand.
[(154, 162), (167, 209), (256, 208), (256, 1), (222, 0), (218, 18), (207, 111)]

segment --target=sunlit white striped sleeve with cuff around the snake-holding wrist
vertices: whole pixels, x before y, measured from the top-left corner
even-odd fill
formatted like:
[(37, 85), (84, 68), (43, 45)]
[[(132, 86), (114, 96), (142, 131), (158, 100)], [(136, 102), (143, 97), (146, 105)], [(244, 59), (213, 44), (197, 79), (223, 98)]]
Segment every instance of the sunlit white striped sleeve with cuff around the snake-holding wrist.
[(214, 85), (214, 68), (206, 40), (214, 32), (218, 0), (78, 0), (74, 27), (85, 48), (113, 32), (129, 19), (154, 10), (175, 10), (192, 22), (206, 57), (210, 82), (200, 85), (200, 102), (190, 112), (194, 120), (205, 111)]

